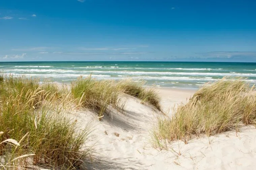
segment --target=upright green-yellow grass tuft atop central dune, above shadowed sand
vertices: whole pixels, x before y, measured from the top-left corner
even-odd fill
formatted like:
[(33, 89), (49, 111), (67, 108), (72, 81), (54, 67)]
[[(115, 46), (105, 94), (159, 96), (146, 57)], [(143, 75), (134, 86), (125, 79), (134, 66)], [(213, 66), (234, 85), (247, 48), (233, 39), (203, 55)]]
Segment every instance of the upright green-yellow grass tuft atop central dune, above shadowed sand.
[(79, 77), (71, 83), (71, 92), (74, 98), (79, 99), (77, 104), (98, 112), (101, 117), (109, 105), (118, 105), (119, 91), (115, 81), (96, 80), (91, 76)]

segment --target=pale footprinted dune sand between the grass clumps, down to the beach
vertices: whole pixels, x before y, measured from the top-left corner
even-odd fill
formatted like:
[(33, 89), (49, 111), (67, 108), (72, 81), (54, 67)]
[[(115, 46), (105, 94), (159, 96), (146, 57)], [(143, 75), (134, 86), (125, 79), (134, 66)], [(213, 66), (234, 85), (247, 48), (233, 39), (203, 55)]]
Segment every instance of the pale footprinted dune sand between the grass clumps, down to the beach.
[[(174, 103), (186, 102), (194, 91), (159, 89), (163, 110)], [(169, 170), (169, 169), (254, 169), (256, 167), (256, 130), (244, 127), (228, 132), (169, 145), (169, 150), (153, 148), (150, 132), (161, 115), (140, 100), (124, 96), (123, 113), (114, 111), (102, 121), (91, 112), (74, 112), (78, 123), (94, 129), (88, 145), (95, 144), (92, 163), (81, 169), (91, 170)], [(170, 109), (171, 110), (171, 109)], [(171, 114), (171, 111), (169, 112)], [(209, 144), (210, 141), (210, 144)], [(87, 160), (90, 162), (90, 160)]]

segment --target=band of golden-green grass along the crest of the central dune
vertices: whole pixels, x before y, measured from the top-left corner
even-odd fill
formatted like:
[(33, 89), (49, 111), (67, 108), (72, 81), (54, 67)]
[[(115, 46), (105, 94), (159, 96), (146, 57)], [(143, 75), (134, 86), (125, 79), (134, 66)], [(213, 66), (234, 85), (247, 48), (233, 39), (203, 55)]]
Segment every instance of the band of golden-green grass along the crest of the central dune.
[(109, 106), (116, 109), (124, 108), (124, 103), (119, 100), (120, 91), (128, 95), (137, 97), (143, 102), (148, 102), (161, 109), (160, 97), (153, 89), (143, 88), (143, 83), (136, 83), (132, 80), (113, 81), (96, 80), (91, 76), (79, 77), (71, 83), (71, 92), (74, 98), (78, 98), (78, 105), (87, 109), (92, 109), (101, 117)]

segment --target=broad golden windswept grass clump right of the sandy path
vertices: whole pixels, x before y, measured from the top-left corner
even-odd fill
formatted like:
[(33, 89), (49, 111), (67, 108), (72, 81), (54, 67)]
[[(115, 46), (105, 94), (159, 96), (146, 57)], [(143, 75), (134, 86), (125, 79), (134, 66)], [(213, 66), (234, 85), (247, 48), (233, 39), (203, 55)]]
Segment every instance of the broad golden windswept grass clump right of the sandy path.
[(205, 134), (208, 137), (243, 125), (256, 123), (256, 91), (249, 83), (229, 80), (204, 84), (184, 105), (178, 105), (170, 118), (158, 120), (155, 141), (188, 140)]

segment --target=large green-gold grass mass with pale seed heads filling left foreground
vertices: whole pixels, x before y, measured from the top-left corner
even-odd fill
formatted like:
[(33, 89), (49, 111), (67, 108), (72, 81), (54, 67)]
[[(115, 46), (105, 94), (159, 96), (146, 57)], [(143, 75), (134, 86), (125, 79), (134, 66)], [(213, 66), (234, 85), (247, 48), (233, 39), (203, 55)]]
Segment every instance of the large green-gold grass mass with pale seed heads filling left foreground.
[[(20, 140), (15, 148), (6, 142), (0, 144), (3, 160), (20, 158), (19, 162), (7, 161), (4, 169), (7, 166), (24, 168), (31, 162), (65, 169), (79, 167), (89, 152), (84, 148), (88, 130), (81, 131), (75, 121), (64, 114), (75, 103), (71, 94), (56, 96), (56, 88), (39, 86), (37, 79), (12, 75), (3, 78), (0, 141)], [(33, 155), (22, 157), (29, 154)]]

